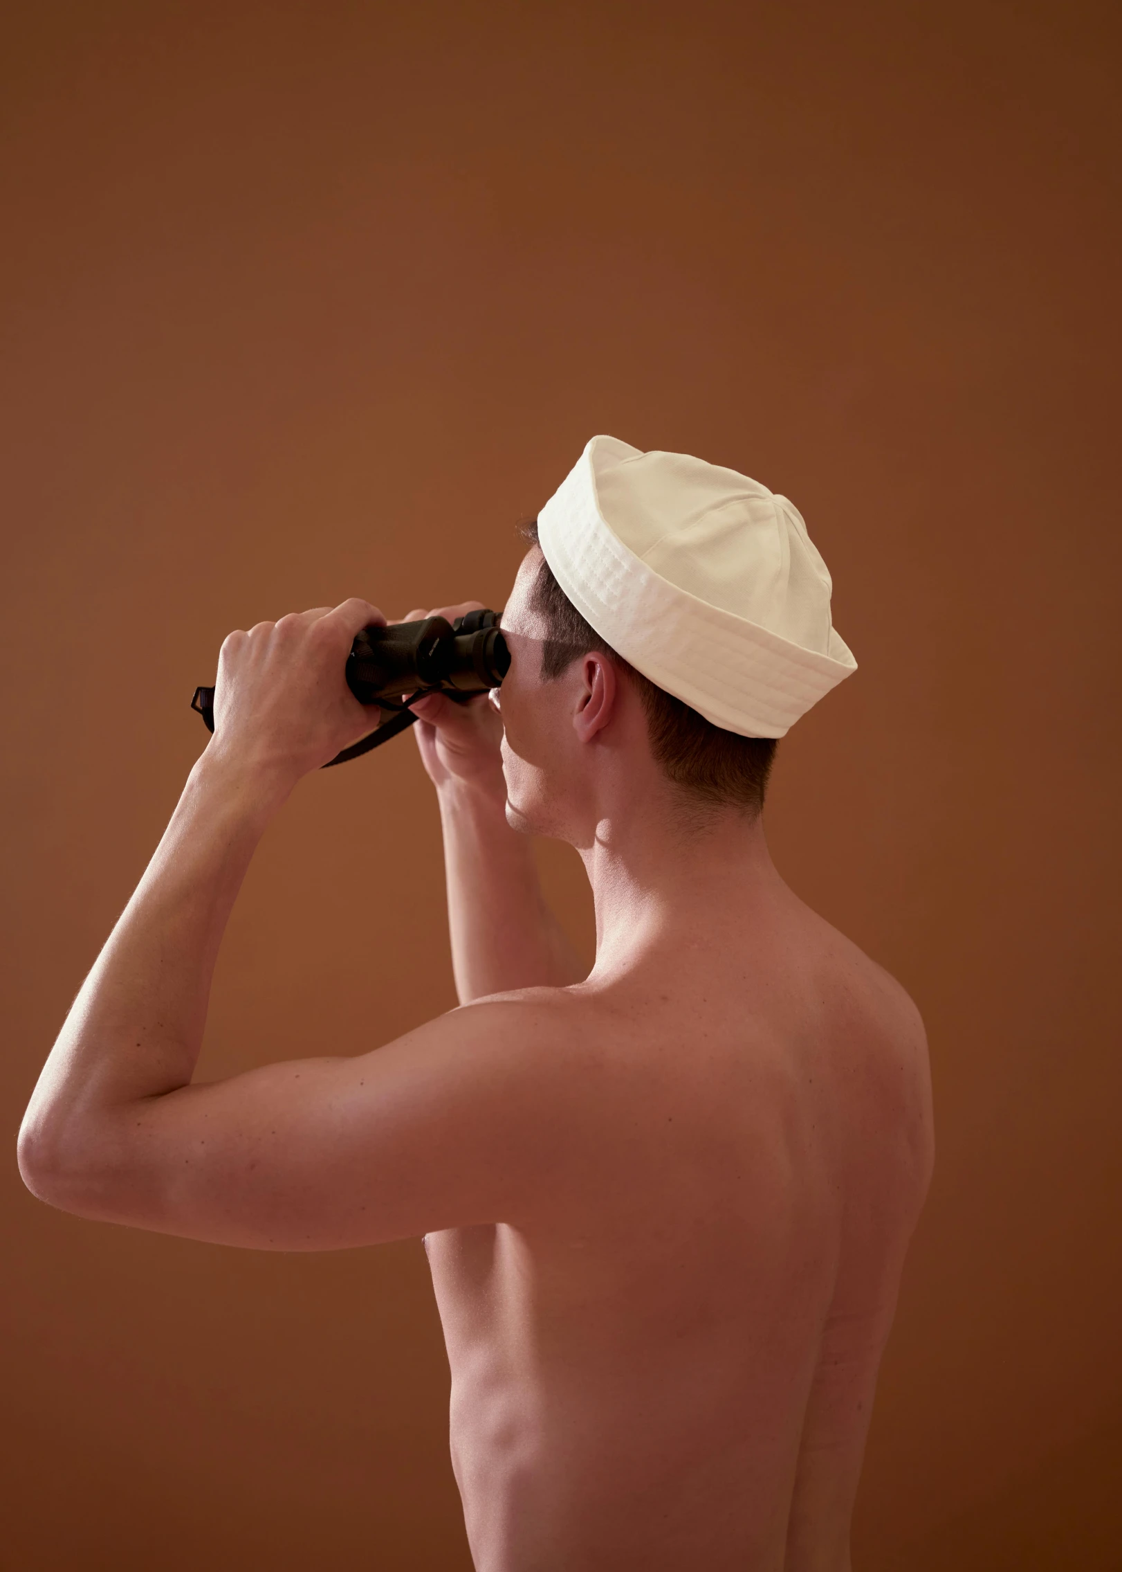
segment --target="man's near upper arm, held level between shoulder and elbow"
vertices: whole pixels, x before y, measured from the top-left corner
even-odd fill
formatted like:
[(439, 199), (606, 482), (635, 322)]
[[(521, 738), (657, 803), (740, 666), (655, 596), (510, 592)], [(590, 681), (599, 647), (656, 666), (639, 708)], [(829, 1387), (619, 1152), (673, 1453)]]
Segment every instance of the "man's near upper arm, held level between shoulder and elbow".
[[(357, 1058), (269, 1064), (121, 1110), (88, 1215), (256, 1250), (490, 1221), (541, 1168), (537, 1053), (504, 1006)], [(542, 1060), (544, 1064), (544, 1060)]]

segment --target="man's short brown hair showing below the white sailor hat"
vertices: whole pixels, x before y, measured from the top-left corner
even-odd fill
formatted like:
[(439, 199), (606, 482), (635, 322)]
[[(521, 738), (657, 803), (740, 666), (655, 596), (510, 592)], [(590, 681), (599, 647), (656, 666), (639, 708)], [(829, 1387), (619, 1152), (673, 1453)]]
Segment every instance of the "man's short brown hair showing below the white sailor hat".
[[(537, 545), (537, 520), (523, 523), (522, 534)], [(592, 649), (610, 656), (643, 701), (651, 751), (666, 778), (702, 803), (746, 808), (753, 816), (759, 814), (775, 759), (775, 737), (742, 737), (735, 731), (724, 731), (680, 698), (655, 687), (580, 615), (544, 556), (537, 566), (531, 605), (545, 621), (545, 681), (559, 678), (578, 656)]]

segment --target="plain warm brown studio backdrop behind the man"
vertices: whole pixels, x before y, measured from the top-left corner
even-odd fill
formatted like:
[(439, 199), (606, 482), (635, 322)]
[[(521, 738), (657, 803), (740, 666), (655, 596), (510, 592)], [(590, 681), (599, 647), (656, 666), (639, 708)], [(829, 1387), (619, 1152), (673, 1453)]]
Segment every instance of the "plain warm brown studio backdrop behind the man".
[[(6, 1129), (228, 629), (501, 605), (592, 432), (764, 479), (861, 663), (779, 748), (773, 854), (935, 1072), (858, 1572), (1122, 1566), (1109, 14), (5, 17)], [(270, 832), (204, 1072), (451, 1003), (404, 740)], [(237, 1253), (47, 1210), (14, 1141), (3, 1173), (3, 1567), (468, 1566), (420, 1243)]]

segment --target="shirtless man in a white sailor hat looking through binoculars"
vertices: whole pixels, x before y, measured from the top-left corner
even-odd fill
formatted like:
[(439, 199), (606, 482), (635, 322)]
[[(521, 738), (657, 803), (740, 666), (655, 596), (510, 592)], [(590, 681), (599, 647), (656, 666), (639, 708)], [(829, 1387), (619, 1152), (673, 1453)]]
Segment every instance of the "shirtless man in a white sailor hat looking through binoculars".
[[(597, 442), (610, 446), (589, 459)], [(666, 476), (657, 461), (680, 456), (611, 439), (589, 443), (581, 484), (589, 464), (632, 456), (655, 461), (654, 475), (636, 470), (647, 522), (660, 503), (638, 481), (671, 503), (684, 486), (684, 516), (695, 481), (754, 486), (710, 465)], [(610, 492), (605, 481), (605, 511)], [(757, 494), (732, 578), (753, 564), (761, 508), (778, 520), (764, 555), (776, 527), (784, 561), (803, 550), (790, 505)], [(632, 659), (657, 665), (627, 616), (641, 627), (644, 597), (662, 591), (635, 569), (625, 605), (605, 612), (578, 583), (588, 541), (567, 555), (550, 508), (545, 556), (528, 552), (503, 616), (501, 690), (465, 709), (431, 698), (418, 725), (460, 1008), (372, 1053), (192, 1083), (256, 843), (299, 778), (371, 725), (343, 663), (380, 619), (372, 605), (262, 623), (223, 645), (215, 737), (47, 1060), (20, 1168), (79, 1215), (256, 1250), (424, 1234), (479, 1572), (844, 1572), (932, 1166), (924, 1028), (904, 989), (776, 872), (757, 811), (773, 745), (742, 750), (740, 780), (728, 758), (698, 775), (698, 748), (658, 729), (666, 704), (679, 720), (685, 704), (607, 632), (618, 616)], [(698, 563), (728, 575), (728, 550), (710, 547), (695, 530), (679, 580)], [(658, 575), (673, 583), (673, 550)], [(805, 593), (790, 567), (779, 619)], [(825, 629), (822, 690), (838, 679), (823, 659), (841, 674), (853, 665)], [(724, 693), (709, 707), (731, 704), (720, 714), (737, 720), (754, 703)], [(737, 737), (693, 709), (685, 725), (706, 745)], [(761, 722), (737, 725), (743, 737)], [(588, 976), (542, 902), (523, 832), (585, 860)]]

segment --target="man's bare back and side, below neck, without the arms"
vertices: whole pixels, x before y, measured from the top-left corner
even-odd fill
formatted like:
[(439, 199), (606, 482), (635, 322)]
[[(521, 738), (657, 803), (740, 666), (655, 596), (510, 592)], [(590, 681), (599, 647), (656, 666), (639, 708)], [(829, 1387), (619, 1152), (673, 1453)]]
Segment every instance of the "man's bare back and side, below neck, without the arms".
[(547, 1204), (429, 1236), (481, 1572), (842, 1572), (930, 1170), (924, 1031), (794, 896), (522, 995), (578, 1130)]

